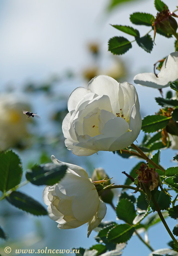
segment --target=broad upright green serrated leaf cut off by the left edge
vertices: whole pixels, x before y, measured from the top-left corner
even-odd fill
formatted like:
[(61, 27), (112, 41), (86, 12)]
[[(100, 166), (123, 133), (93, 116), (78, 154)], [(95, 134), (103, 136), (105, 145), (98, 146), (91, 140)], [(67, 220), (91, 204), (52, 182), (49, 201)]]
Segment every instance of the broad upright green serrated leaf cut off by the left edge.
[(20, 183), (22, 166), (20, 158), (12, 150), (0, 153), (0, 190), (6, 192)]

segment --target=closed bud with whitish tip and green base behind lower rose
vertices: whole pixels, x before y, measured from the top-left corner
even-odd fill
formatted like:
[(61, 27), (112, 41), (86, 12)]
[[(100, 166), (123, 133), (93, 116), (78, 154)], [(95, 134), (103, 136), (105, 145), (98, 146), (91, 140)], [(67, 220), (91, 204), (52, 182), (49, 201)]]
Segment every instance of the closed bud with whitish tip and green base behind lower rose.
[(92, 180), (93, 181), (107, 180), (106, 182), (104, 182), (104, 186), (101, 185), (101, 184), (98, 184), (95, 187), (98, 191), (98, 195), (101, 197), (101, 200), (105, 203), (112, 204), (112, 200), (113, 200), (113, 197), (114, 197), (114, 194), (113, 194), (112, 190), (111, 189), (104, 190), (104, 188), (106, 186), (109, 186), (111, 184), (105, 170), (101, 167), (94, 169), (93, 175), (92, 175)]

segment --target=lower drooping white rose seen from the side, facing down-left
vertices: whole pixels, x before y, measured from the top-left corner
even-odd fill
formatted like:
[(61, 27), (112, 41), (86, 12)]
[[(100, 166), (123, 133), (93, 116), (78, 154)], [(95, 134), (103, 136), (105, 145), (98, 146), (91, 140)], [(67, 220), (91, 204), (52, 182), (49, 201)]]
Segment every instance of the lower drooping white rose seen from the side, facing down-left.
[(49, 217), (60, 229), (77, 228), (88, 222), (88, 233), (96, 228), (106, 214), (106, 204), (99, 199), (98, 192), (80, 166), (63, 163), (51, 156), (54, 164), (68, 166), (64, 178), (52, 187), (46, 186), (43, 201), (48, 205)]

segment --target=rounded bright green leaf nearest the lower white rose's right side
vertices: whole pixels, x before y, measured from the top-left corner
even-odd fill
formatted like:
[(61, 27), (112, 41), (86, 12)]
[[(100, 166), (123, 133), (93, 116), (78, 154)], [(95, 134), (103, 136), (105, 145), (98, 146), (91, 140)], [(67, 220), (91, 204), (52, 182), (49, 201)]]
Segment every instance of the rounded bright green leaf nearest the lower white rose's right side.
[(122, 198), (116, 207), (116, 214), (120, 220), (124, 220), (128, 224), (132, 224), (137, 213), (134, 204), (127, 198)]

